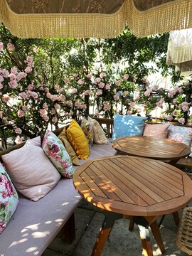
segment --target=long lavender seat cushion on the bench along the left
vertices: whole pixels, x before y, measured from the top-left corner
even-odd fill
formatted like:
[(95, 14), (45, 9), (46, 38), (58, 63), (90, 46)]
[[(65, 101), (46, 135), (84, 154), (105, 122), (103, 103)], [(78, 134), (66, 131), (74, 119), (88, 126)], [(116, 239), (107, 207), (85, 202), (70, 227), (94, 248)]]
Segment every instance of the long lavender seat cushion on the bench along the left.
[[(114, 155), (111, 144), (93, 144), (89, 159)], [(80, 160), (83, 164), (86, 160)], [(77, 169), (78, 166), (75, 166)], [(19, 195), (16, 212), (0, 235), (4, 256), (41, 255), (59, 233), (82, 198), (73, 180), (61, 178), (55, 188), (37, 202)]]

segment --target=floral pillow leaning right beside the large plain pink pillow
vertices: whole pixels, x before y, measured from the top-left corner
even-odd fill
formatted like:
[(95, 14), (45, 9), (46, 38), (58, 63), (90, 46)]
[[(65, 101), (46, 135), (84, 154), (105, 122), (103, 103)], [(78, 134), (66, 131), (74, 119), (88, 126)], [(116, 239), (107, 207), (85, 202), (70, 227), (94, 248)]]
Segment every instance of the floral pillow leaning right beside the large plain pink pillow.
[(75, 170), (70, 156), (63, 146), (63, 143), (53, 132), (49, 130), (46, 131), (42, 148), (60, 174), (65, 178), (72, 178)]

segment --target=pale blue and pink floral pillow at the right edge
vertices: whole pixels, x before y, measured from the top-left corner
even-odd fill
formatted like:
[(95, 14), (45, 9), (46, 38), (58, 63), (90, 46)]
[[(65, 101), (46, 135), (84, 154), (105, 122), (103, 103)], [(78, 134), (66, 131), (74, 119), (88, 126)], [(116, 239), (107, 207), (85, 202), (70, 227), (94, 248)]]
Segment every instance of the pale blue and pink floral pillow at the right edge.
[[(177, 142), (182, 142), (188, 146), (191, 146), (192, 141), (192, 128), (191, 127), (181, 127), (178, 125), (171, 124), (168, 129), (169, 139), (174, 139)], [(192, 156), (192, 146), (191, 146), (191, 154)]]

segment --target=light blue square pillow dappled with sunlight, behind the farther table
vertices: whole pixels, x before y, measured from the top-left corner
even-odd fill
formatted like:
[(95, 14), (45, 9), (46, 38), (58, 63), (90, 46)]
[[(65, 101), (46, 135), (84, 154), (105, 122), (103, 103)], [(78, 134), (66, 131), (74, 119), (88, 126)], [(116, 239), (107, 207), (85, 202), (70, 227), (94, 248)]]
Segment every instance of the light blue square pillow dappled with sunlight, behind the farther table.
[(144, 131), (144, 121), (146, 119), (147, 117), (114, 114), (114, 132), (112, 134), (112, 140), (119, 137), (142, 135)]

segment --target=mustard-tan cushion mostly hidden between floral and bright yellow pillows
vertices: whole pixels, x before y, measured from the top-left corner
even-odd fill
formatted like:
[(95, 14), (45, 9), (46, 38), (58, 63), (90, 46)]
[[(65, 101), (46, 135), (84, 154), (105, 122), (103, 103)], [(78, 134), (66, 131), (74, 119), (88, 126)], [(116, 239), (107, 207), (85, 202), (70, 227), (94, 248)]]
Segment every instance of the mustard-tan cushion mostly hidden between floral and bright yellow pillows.
[(79, 165), (80, 161), (78, 159), (78, 156), (75, 153), (75, 150), (73, 149), (73, 146), (71, 146), (70, 142), (68, 141), (67, 137), (67, 130), (64, 127), (62, 132), (58, 135), (58, 138), (63, 142), (63, 145), (65, 146), (66, 151), (68, 151), (68, 154), (70, 155), (70, 159), (75, 165)]

